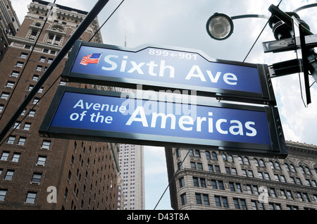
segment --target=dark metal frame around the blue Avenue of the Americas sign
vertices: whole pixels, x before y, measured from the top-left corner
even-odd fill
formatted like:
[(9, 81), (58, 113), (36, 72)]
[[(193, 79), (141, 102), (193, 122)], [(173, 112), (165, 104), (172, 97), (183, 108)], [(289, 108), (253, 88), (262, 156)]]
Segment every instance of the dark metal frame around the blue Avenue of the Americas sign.
[[(63, 119), (58, 119), (59, 117), (56, 114), (62, 114), (64, 116), (65, 113), (70, 113), (69, 108), (66, 111), (63, 111), (62, 108), (58, 109), (61, 101), (63, 99), (64, 94), (67, 93), (75, 93), (82, 95), (89, 95), (88, 97), (111, 97), (111, 98), (119, 98), (121, 97), (120, 92), (106, 92), (95, 89), (78, 89), (73, 87), (65, 87), (60, 86), (56, 92), (56, 95), (49, 107), (48, 113), (43, 120), (41, 127), (39, 128), (39, 135), (41, 137), (53, 137), (53, 138), (61, 138), (61, 139), (81, 139), (87, 141), (98, 141), (98, 142), (120, 142), (125, 144), (144, 144), (150, 146), (159, 146), (159, 147), (184, 147), (184, 148), (197, 148), (197, 149), (208, 149), (209, 147), (219, 147), (220, 150), (223, 151), (232, 151), (236, 154), (249, 154), (249, 155), (261, 155), (275, 158), (285, 158), (287, 156), (287, 149), (285, 145), (285, 139), (282, 132), (282, 125), (280, 124), (280, 117), (278, 115), (278, 108), (271, 106), (245, 106), (240, 104), (221, 104), (221, 103), (211, 103), (208, 99), (204, 97), (199, 97), (197, 106), (208, 107), (208, 109), (216, 108), (218, 110), (222, 110), (223, 108), (228, 108), (235, 110), (237, 113), (247, 113), (246, 111), (251, 111), (250, 113), (256, 113), (254, 116), (258, 115), (260, 111), (261, 115), (266, 116), (266, 120), (261, 119), (263, 123), (267, 122), (267, 130), (268, 133), (265, 135), (269, 136), (269, 140), (265, 144), (256, 144), (249, 142), (235, 142), (235, 141), (224, 141), (219, 139), (202, 139), (197, 137), (188, 137), (183, 136), (182, 133), (175, 134), (175, 136), (169, 136), (166, 134), (168, 131), (163, 131), (160, 134), (156, 132), (142, 130), (142, 128), (138, 130), (142, 130), (141, 132), (126, 132), (125, 131), (107, 131), (107, 130), (97, 130), (97, 128), (85, 129), (86, 127), (61, 127), (61, 126), (52, 126), (51, 124), (55, 120), (59, 120), (58, 122), (63, 123)], [(147, 97), (142, 95), (142, 97), (138, 97), (137, 94), (128, 94), (125, 93), (125, 97), (129, 99), (134, 99), (136, 101), (153, 101), (151, 97)], [(78, 95), (79, 96), (79, 95)], [(87, 98), (88, 99), (88, 98)], [(105, 98), (106, 99), (106, 98)], [(167, 102), (172, 102), (173, 104), (180, 104), (179, 102), (175, 102), (173, 99), (170, 101), (169, 99), (163, 100), (163, 104)], [(66, 101), (65, 105), (68, 105), (69, 101)], [(156, 102), (156, 101), (155, 101)], [(192, 102), (189, 101), (189, 104)], [(182, 104), (183, 105), (183, 104)], [(69, 106), (69, 105), (68, 105)], [(62, 107), (62, 106), (61, 106)], [(71, 109), (73, 107), (70, 106)], [(215, 111), (216, 111), (215, 109)], [(60, 110), (60, 111), (58, 111)], [(253, 112), (252, 112), (253, 111)], [(56, 116), (56, 118), (54, 118)], [(69, 119), (68, 117), (64, 117), (65, 119)], [(230, 117), (231, 118), (231, 117)], [(248, 118), (249, 119), (249, 118)], [(125, 121), (124, 121), (125, 122)], [(73, 123), (72, 123), (73, 125)], [(113, 124), (117, 125), (118, 124)], [(216, 125), (215, 125), (216, 126)], [(105, 127), (108, 128), (109, 126)], [(104, 127), (103, 127), (104, 128)], [(114, 127), (116, 128), (116, 127)], [(121, 127), (120, 127), (121, 128)], [(143, 128), (144, 129), (144, 128)], [(145, 131), (145, 132), (144, 132)], [(264, 131), (263, 131), (264, 132)], [(153, 134), (155, 133), (155, 134)], [(195, 132), (197, 133), (197, 132)], [(190, 133), (189, 133), (190, 134)], [(190, 134), (192, 135), (192, 134)], [(197, 134), (194, 134), (197, 135)], [(193, 135), (193, 136), (194, 136)], [(244, 136), (245, 137), (245, 136)], [(254, 140), (258, 141), (258, 140)]]

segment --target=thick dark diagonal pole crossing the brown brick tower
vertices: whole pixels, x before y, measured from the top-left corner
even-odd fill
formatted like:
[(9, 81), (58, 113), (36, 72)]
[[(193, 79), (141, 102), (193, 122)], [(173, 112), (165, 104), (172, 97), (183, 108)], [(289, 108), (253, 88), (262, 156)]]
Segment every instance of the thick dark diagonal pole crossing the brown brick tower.
[(20, 114), (23, 112), (27, 104), (29, 104), (32, 98), (35, 97), (35, 94), (37, 94), (37, 92), (42, 87), (44, 82), (46, 82), (46, 80), (49, 78), (49, 76), (55, 70), (58, 64), (63, 60), (66, 54), (68, 54), (68, 51), (70, 51), (70, 49), (73, 47), (73, 45), (75, 44), (75, 41), (78, 38), (80, 38), (80, 36), (85, 32), (87, 27), (89, 27), (89, 25), (94, 21), (94, 18), (97, 17), (97, 15), (104, 8), (104, 6), (106, 6), (107, 3), (108, 3), (108, 0), (99, 0), (97, 4), (94, 6), (94, 8), (92, 8), (92, 10), (87, 14), (85, 19), (82, 20), (82, 23), (80, 23), (80, 25), (77, 27), (73, 35), (70, 37), (70, 39), (68, 39), (68, 42), (66, 42), (66, 44), (63, 46), (63, 48), (58, 53), (56, 58), (54, 58), (49, 68), (46, 69), (46, 71), (43, 73), (42, 77), (39, 79), (37, 84), (32, 88), (31, 92), (27, 95), (27, 97), (25, 97), (22, 104), (20, 104), (17, 111), (15, 111), (15, 113), (13, 114), (11, 119), (8, 121), (4, 129), (1, 131), (0, 142), (2, 141), (2, 139), (4, 139), (4, 137), (6, 136), (6, 133), (13, 126), (13, 124), (18, 119)]

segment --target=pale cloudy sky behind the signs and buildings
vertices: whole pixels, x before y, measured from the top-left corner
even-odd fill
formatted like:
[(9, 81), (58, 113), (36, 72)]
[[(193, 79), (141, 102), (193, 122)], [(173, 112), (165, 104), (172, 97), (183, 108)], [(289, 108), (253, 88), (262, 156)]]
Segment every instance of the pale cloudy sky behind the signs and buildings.
[[(31, 0), (11, 0), (20, 23), (27, 13)], [(54, 2), (53, 0), (47, 0)], [(99, 25), (120, 4), (121, 0), (110, 0), (99, 13)], [(173, 46), (203, 51), (211, 58), (229, 61), (244, 61), (251, 46), (256, 41), (267, 20), (248, 18), (234, 20), (235, 30), (231, 37), (223, 41), (211, 39), (206, 32), (206, 22), (213, 13), (230, 16), (259, 14), (271, 16), (269, 6), (277, 6), (280, 0), (129, 0), (124, 1), (118, 11), (102, 27), (104, 44), (128, 47), (144, 44)], [(294, 9), (316, 0), (283, 0), (282, 11)], [(90, 11), (97, 0), (56, 0), (56, 4)], [(299, 16), (317, 32), (317, 7), (299, 11)], [(247, 63), (266, 63), (271, 65), (296, 58), (294, 51), (285, 53), (263, 52), (262, 42), (273, 41), (271, 28), (267, 25), (259, 40), (247, 56)], [(310, 83), (313, 83), (311, 78)], [(293, 142), (317, 145), (317, 84), (311, 87), (312, 104), (304, 106), (299, 88), (299, 75), (287, 75), (273, 79), (273, 89), (281, 116), (285, 139)], [(168, 186), (165, 152), (162, 148), (146, 147), (145, 151), (145, 197), (146, 209), (154, 209)], [(167, 191), (156, 208), (171, 209)]]

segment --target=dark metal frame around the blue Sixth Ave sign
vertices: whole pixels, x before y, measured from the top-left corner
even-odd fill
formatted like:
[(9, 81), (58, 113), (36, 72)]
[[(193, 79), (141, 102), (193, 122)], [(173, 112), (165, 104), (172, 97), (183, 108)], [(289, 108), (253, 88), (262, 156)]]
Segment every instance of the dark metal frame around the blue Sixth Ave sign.
[[(191, 82), (187, 82), (187, 84), (183, 82), (175, 83), (173, 82), (173, 79), (170, 79), (168, 81), (166, 80), (160, 81), (159, 79), (156, 80), (156, 77), (151, 77), (151, 80), (142, 80), (141, 78), (135, 78), (128, 75), (124, 77), (123, 76), (119, 77), (119, 75), (118, 76), (108, 75), (107, 72), (104, 72), (103, 74), (92, 74), (92, 73), (89, 73), (89, 71), (87, 73), (82, 73), (80, 69), (78, 69), (79, 72), (75, 73), (72, 71), (72, 69), (75, 64), (75, 60), (76, 59), (77, 61), (79, 60), (77, 58), (77, 55), (80, 52), (80, 49), (82, 46), (98, 48), (98, 49), (109, 49), (109, 50), (114, 50), (120, 53), (122, 53), (123, 51), (128, 53), (133, 52), (136, 54), (138, 54), (144, 49), (151, 48), (151, 49), (157, 49), (159, 51), (164, 51), (164, 50), (170, 51), (170, 52), (173, 51), (173, 53), (170, 54), (170, 55), (173, 55), (173, 58), (169, 59), (171, 61), (174, 60), (175, 55), (177, 55), (178, 52), (181, 52), (182, 54), (184, 55), (188, 54), (189, 56), (197, 55), (197, 57), (204, 58), (205, 61), (213, 65), (237, 66), (242, 69), (254, 68), (258, 71), (259, 77), (254, 77), (254, 78), (259, 79), (259, 86), (261, 87), (261, 93), (221, 89), (218, 87), (199, 86), (199, 85), (194, 85)], [(186, 63), (188, 64), (189, 62), (185, 61), (184, 64)], [(125, 87), (130, 89), (137, 89), (137, 85), (142, 85), (143, 90), (148, 90), (148, 89), (152, 89), (154, 91), (170, 90), (172, 92), (175, 90), (180, 90), (180, 91), (189, 90), (189, 91), (196, 91), (199, 96), (214, 97), (218, 100), (221, 99), (221, 100), (227, 100), (227, 101), (240, 101), (240, 102), (247, 102), (251, 104), (265, 104), (265, 105), (276, 106), (275, 95), (273, 92), (273, 86), (271, 83), (271, 77), (269, 75), (269, 70), (267, 65), (213, 59), (213, 58), (209, 58), (209, 56), (206, 56), (201, 51), (189, 50), (189, 49), (180, 49), (180, 48), (176, 49), (173, 47), (149, 46), (149, 45), (139, 46), (135, 49), (130, 49), (123, 46), (113, 46), (108, 44), (96, 44), (96, 43), (77, 41), (73, 47), (73, 51), (71, 52), (68, 58), (65, 69), (63, 70), (63, 73), (61, 74), (61, 78), (64, 82), (80, 82), (80, 83), (87, 83), (87, 84), (94, 84), (94, 85)], [(184, 80), (184, 78), (182, 79)], [(250, 82), (247, 82), (244, 85), (251, 86), (253, 84)]]

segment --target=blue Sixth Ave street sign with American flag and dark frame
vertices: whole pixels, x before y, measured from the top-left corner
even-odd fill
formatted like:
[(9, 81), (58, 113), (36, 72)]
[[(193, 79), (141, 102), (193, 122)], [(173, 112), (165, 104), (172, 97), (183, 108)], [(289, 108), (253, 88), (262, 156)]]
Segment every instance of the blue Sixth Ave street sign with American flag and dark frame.
[(276, 105), (268, 66), (216, 60), (169, 47), (136, 49), (76, 42), (62, 73), (66, 82), (153, 90), (193, 90), (218, 99)]

